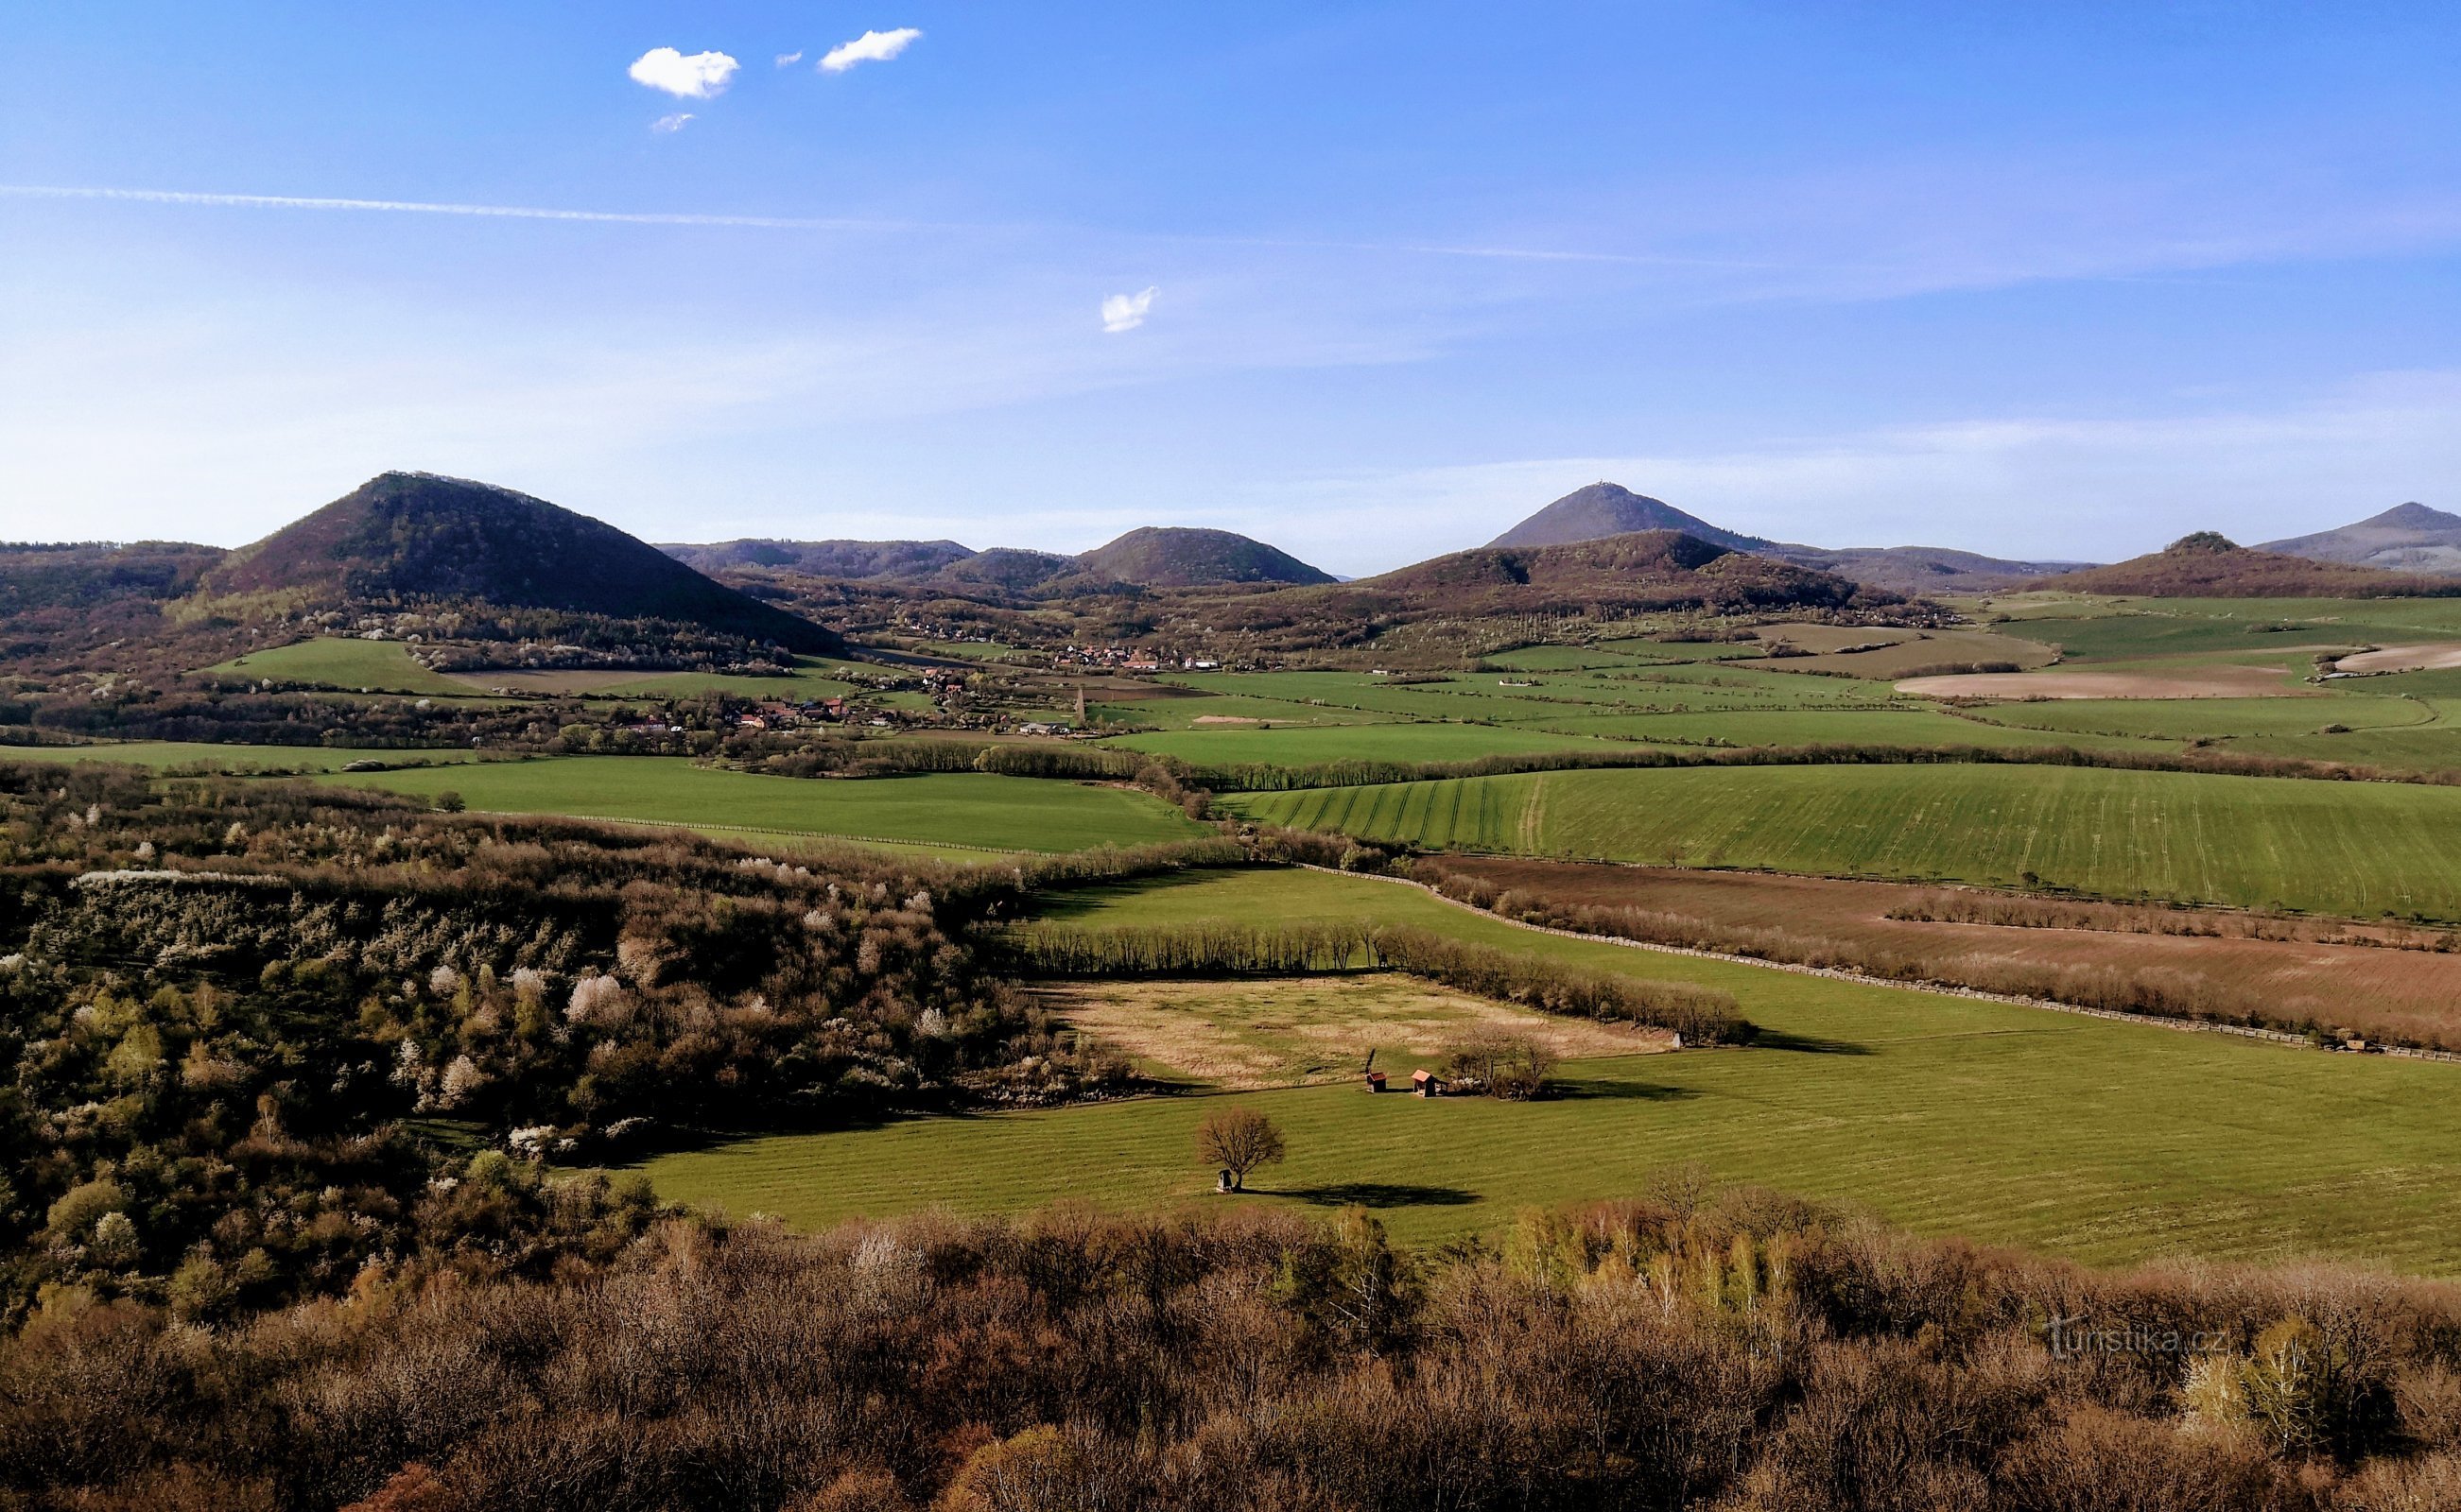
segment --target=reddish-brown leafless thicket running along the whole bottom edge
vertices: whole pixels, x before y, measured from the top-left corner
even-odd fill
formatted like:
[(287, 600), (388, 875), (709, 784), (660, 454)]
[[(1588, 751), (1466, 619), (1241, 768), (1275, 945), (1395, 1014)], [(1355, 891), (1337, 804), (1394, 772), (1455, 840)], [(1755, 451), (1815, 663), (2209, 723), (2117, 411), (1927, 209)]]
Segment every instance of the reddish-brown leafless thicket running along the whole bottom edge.
[(2454, 1505), (2456, 1382), (2446, 1283), (2097, 1274), (1688, 1180), (1425, 1259), (1356, 1210), (672, 1219), (219, 1330), (54, 1298), (0, 1342), (0, 1502), (2380, 1512)]

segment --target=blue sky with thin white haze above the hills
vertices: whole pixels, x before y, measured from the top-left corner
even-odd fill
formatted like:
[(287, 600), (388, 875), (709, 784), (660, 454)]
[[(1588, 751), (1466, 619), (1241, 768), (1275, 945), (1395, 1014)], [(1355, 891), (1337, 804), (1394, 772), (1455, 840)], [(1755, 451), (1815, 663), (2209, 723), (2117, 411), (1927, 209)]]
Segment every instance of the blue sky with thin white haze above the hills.
[(79, 192), (0, 192), (0, 536), (386, 467), (1344, 573), (1600, 477), (2040, 558), (2461, 509), (2451, 5), (0, 15), (0, 184)]

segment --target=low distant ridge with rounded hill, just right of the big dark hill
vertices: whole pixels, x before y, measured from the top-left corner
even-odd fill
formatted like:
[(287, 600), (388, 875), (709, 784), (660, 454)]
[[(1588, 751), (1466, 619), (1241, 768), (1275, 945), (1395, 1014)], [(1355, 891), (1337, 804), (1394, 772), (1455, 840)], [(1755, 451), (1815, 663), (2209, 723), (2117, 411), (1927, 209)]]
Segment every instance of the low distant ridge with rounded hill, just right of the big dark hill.
[(1312, 568), (1277, 546), (1233, 531), (1186, 526), (1135, 529), (1078, 556), (1019, 546), (972, 551), (957, 541), (721, 541), (716, 546), (660, 546), (660, 551), (709, 573), (770, 568), (810, 578), (943, 583), (1009, 595), (1090, 593), (1120, 583), (1135, 588), (1336, 583), (1331, 573)]

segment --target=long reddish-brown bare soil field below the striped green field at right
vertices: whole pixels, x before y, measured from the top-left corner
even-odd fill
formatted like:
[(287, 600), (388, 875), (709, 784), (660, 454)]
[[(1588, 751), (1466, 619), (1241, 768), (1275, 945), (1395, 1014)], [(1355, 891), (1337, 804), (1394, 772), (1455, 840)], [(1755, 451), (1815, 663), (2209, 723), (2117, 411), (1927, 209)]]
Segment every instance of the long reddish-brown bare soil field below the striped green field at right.
[[(1792, 939), (1831, 942), (1841, 954), (1920, 956), (1942, 981), (1993, 966), (2109, 969), (2158, 978), (2215, 998), (2264, 998), (2284, 1020), (2316, 1018), (2367, 1038), (2461, 1045), (2461, 954), (2323, 944), (2323, 937), (2431, 939), (2424, 932), (2333, 919), (2252, 919), (2198, 915), (2225, 929), (2267, 929), (2296, 939), (2212, 939), (2121, 934), (2107, 929), (2028, 929), (1890, 919), (1893, 910), (1939, 897), (1937, 888), (1848, 883), (1765, 873), (1703, 873), (1686, 868), (1597, 865), (1565, 860), (1445, 858), (1447, 870), (1479, 875), (1558, 905), (1639, 907), (1703, 919), (1728, 929), (1762, 929)], [(1998, 895), (1979, 895), (1984, 900)], [(2124, 905), (2057, 905), (2107, 924), (2148, 917)], [(1846, 964), (1846, 961), (1841, 961)]]

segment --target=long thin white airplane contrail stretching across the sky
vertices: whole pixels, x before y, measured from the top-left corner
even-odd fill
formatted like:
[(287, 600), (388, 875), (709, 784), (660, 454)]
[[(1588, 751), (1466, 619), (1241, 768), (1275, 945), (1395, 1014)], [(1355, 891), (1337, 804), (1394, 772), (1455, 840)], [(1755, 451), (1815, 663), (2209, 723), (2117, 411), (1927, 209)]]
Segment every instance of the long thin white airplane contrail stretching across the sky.
[[(106, 189), (86, 184), (0, 184), (0, 197), (17, 199), (118, 199), (133, 204), (204, 204), (226, 209), (325, 209), (325, 211), (377, 211), (413, 216), (473, 216), (497, 221), (583, 221), (613, 226), (726, 226), (748, 231), (999, 231), (1016, 234), (1034, 226), (975, 224), (975, 221), (886, 221), (861, 216), (736, 216), (689, 211), (637, 211), (637, 209), (554, 209), (541, 204), (455, 204), (438, 199), (337, 199), (317, 194), (209, 194), (199, 189)], [(1671, 258), (1651, 253), (1612, 251), (1560, 251), (1533, 246), (1445, 246), (1445, 243), (1390, 243), (1390, 241), (1317, 241), (1282, 236), (1221, 236), (1181, 231), (1112, 231), (1144, 241), (1184, 241), (1201, 246), (1280, 246), (1294, 251), (1368, 251), (1427, 258), (1501, 258), (1526, 263), (1622, 263), (1622, 266), (1676, 266), (1676, 268), (1772, 268), (1774, 263), (1745, 263), (1728, 258)]]

